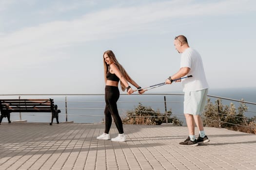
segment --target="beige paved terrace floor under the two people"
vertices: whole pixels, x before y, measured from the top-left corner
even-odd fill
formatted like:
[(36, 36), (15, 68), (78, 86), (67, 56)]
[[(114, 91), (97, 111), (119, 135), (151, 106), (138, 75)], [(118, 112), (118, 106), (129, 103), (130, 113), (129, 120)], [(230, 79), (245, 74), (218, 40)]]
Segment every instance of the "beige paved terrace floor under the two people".
[(96, 139), (103, 124), (4, 122), (0, 170), (256, 170), (256, 135), (206, 127), (209, 144), (184, 147), (187, 127), (124, 130), (127, 142), (112, 142)]

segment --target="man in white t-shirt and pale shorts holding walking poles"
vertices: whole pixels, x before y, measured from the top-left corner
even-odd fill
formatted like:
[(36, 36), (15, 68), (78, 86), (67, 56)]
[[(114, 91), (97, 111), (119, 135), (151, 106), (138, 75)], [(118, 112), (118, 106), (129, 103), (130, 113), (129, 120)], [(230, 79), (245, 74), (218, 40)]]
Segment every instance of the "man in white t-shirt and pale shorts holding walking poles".
[[(174, 79), (179, 79), (186, 75), (193, 77), (182, 79), (184, 91), (184, 115), (186, 118), (189, 136), (182, 146), (197, 146), (207, 143), (210, 140), (205, 135), (200, 113), (204, 110), (205, 101), (208, 93), (208, 83), (206, 81), (203, 63), (200, 54), (189, 47), (187, 38), (178, 35), (174, 39), (174, 46), (178, 53), (181, 53), (180, 69), (169, 77), (165, 83), (172, 84)], [(181, 82), (181, 79), (176, 82)], [(199, 129), (199, 136), (195, 136), (195, 123)]]

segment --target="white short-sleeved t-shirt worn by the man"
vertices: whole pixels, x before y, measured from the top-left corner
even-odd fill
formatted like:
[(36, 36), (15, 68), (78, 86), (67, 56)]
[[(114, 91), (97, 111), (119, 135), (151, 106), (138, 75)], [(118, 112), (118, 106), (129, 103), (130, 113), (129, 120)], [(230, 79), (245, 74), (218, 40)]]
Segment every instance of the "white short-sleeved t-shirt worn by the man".
[(187, 75), (192, 75), (186, 79), (182, 79), (183, 91), (197, 91), (208, 88), (205, 77), (203, 62), (200, 54), (189, 47), (181, 54), (180, 68), (190, 68)]

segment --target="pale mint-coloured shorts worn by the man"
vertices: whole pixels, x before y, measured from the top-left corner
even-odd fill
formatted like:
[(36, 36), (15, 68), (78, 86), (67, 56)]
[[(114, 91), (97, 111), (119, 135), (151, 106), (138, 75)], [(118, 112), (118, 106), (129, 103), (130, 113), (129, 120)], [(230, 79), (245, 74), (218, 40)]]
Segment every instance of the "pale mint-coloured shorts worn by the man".
[(208, 88), (184, 93), (184, 114), (200, 115), (204, 110)]

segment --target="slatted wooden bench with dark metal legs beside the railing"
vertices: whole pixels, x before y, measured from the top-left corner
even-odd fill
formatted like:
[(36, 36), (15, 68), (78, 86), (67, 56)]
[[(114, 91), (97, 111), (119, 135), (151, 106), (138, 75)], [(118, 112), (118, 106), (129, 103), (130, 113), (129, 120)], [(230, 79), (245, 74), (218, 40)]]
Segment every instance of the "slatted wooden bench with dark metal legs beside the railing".
[(0, 99), (0, 123), (2, 119), (7, 117), (8, 122), (11, 123), (10, 113), (12, 112), (50, 112), (52, 113), (52, 120), (56, 118), (59, 124), (58, 106), (54, 105), (53, 99)]

